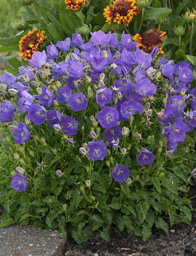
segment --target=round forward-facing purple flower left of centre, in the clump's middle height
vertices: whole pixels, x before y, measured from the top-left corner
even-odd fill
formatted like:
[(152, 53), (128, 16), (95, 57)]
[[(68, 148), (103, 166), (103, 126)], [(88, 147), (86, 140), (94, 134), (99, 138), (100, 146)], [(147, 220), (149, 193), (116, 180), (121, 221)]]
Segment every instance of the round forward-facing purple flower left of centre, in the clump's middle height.
[(74, 93), (70, 98), (68, 98), (68, 104), (70, 105), (71, 109), (75, 112), (79, 112), (82, 110), (86, 110), (88, 105), (88, 100), (83, 93)]

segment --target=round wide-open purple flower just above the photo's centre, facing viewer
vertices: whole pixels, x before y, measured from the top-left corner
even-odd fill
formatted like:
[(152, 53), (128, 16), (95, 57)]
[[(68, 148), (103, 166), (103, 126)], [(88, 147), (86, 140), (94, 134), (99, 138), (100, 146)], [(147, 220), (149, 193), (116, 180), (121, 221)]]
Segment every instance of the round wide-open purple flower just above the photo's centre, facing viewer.
[(118, 110), (111, 106), (104, 106), (97, 114), (97, 120), (102, 128), (113, 128), (118, 124)]

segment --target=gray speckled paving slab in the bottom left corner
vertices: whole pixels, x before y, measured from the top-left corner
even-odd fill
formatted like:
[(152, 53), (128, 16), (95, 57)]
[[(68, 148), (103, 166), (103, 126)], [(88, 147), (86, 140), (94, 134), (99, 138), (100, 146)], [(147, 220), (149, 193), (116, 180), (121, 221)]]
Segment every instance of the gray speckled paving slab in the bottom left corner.
[(0, 229), (0, 256), (62, 256), (65, 238), (56, 230), (19, 227)]

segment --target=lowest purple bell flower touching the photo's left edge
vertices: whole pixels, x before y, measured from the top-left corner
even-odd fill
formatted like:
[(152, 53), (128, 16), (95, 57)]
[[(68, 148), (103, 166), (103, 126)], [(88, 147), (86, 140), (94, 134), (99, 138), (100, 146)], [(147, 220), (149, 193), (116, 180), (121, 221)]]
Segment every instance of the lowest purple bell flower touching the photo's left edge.
[(12, 122), (15, 117), (15, 106), (9, 101), (2, 101), (0, 105), (0, 123)]

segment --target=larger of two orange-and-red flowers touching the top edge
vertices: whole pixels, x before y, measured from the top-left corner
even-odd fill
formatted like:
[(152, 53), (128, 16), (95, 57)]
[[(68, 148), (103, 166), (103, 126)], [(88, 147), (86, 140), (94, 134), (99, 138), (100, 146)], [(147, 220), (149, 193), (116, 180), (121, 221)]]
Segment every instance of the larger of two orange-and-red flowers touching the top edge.
[(105, 8), (104, 16), (107, 23), (124, 23), (126, 26), (139, 14), (135, 0), (115, 0)]

